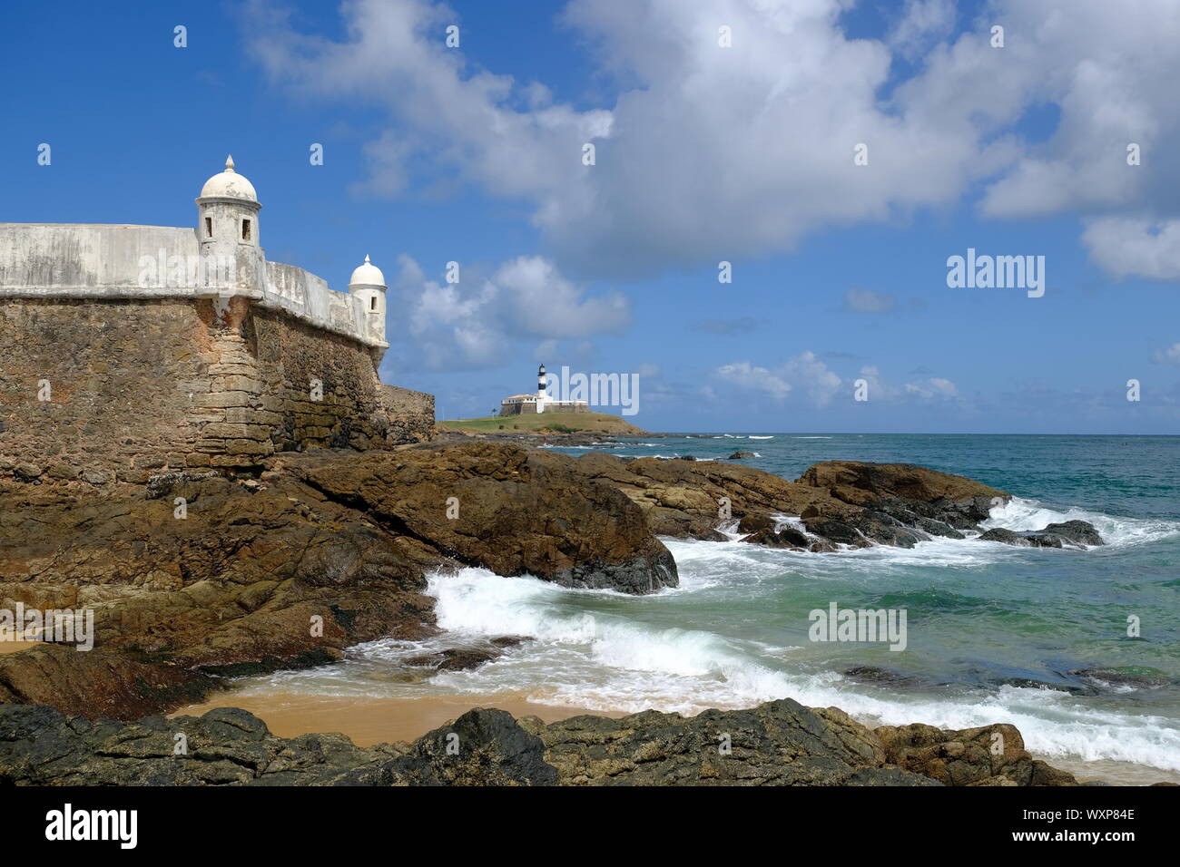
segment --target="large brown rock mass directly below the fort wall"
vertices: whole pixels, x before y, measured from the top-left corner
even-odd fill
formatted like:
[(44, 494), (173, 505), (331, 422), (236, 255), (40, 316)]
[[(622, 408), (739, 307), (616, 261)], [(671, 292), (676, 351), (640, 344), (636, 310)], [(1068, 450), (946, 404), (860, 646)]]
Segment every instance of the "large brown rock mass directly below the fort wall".
[(625, 592), (675, 584), (640, 508), (573, 464), (467, 444), (286, 455), (266, 484), (210, 471), (106, 494), (8, 482), (0, 603), (92, 610), (96, 649), (4, 655), (0, 701), (130, 718), (192, 701), (209, 687), (201, 671), (317, 664), (360, 642), (421, 638), (434, 631), (427, 569)]

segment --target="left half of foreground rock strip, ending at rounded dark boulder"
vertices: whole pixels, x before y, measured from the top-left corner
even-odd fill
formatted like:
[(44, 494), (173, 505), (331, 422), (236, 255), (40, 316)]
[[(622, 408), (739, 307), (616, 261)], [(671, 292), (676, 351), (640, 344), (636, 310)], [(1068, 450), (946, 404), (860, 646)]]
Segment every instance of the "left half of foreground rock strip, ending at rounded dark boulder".
[[(177, 736), (181, 737), (177, 737)], [(413, 744), (275, 737), (235, 708), (133, 723), (0, 705), (0, 783), (58, 786), (548, 786), (540, 741), (503, 710), (471, 710)]]

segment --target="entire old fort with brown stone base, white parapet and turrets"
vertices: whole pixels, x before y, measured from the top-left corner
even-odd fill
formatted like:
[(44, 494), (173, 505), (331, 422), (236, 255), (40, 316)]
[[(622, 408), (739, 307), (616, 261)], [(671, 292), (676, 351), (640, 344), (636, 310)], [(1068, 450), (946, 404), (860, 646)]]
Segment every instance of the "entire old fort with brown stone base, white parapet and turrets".
[(188, 234), (0, 224), (0, 474), (142, 482), (162, 469), (256, 467), (283, 451), (430, 439), (433, 396), (378, 375), (380, 271), (366, 261), (343, 294), (266, 262), (253, 188), (234, 176), (227, 190), (221, 177), (197, 202), (217, 219), (237, 204), (249, 215), (249, 243), (240, 224), (225, 230), (245, 267), (197, 285), (145, 285), (143, 265), (157, 248), (160, 262), (184, 261), (221, 243), (204, 216)]

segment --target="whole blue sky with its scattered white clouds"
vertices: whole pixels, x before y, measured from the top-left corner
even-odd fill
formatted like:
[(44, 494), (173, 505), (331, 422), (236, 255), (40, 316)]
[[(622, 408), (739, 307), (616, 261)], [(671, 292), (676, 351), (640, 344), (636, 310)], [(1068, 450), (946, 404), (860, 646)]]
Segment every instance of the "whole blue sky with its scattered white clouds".
[[(1174, 2), (54, 8), (6, 5), (0, 221), (190, 225), (232, 153), (268, 258), (384, 269), (440, 418), (544, 361), (654, 431), (1178, 432)], [(968, 248), (1044, 296), (949, 288)]]

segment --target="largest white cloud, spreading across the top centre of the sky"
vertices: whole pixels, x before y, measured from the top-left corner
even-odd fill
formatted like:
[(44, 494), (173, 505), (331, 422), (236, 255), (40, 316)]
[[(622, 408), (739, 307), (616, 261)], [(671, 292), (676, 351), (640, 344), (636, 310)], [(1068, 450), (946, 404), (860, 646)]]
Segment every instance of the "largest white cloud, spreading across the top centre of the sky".
[[(969, 125), (879, 104), (884, 42), (844, 37), (843, 0), (579, 0), (565, 21), (628, 84), (610, 111), (536, 98), (465, 65), (427, 0), (356, 0), (346, 37), (304, 37), (258, 0), (250, 42), (301, 96), (385, 106), (371, 191), (402, 189), (415, 157), (522, 198), (560, 255), (636, 274), (791, 249), (827, 224), (953, 202), (995, 165)], [(717, 45), (717, 21), (734, 47)], [(834, 111), (833, 106), (840, 110)], [(581, 163), (582, 145), (597, 164)], [(870, 144), (871, 168), (853, 165)], [(789, 204), (787, 204), (789, 203)]]

